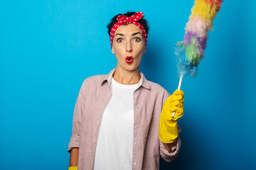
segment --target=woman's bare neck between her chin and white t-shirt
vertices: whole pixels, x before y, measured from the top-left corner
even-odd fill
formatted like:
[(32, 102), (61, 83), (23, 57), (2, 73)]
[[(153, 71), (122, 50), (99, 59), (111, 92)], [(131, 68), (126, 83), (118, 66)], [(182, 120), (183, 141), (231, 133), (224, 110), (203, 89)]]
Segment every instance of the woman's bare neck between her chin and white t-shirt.
[(117, 81), (119, 84), (138, 84), (141, 76), (139, 74), (139, 68), (133, 71), (125, 70), (125, 69), (115, 69), (113, 74), (113, 79)]

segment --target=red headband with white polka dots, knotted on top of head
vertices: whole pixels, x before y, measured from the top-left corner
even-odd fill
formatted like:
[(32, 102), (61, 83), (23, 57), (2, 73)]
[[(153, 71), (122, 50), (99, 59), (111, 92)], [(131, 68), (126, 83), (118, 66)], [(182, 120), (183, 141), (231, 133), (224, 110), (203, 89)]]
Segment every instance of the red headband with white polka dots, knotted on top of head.
[(146, 30), (144, 29), (144, 27), (142, 26), (142, 24), (137, 23), (137, 21), (139, 21), (141, 18), (143, 17), (143, 13), (142, 12), (137, 12), (134, 13), (132, 16), (124, 16), (124, 15), (120, 15), (117, 16), (117, 23), (114, 24), (114, 26), (112, 27), (112, 29), (110, 30), (110, 43), (111, 43), (111, 48), (112, 48), (112, 43), (113, 43), (113, 39), (114, 39), (114, 32), (117, 30), (117, 28), (119, 26), (122, 26), (123, 24), (129, 24), (129, 23), (133, 23), (135, 26), (139, 27), (140, 30), (142, 30), (142, 35), (144, 38), (144, 42), (145, 42), (145, 47), (146, 47)]

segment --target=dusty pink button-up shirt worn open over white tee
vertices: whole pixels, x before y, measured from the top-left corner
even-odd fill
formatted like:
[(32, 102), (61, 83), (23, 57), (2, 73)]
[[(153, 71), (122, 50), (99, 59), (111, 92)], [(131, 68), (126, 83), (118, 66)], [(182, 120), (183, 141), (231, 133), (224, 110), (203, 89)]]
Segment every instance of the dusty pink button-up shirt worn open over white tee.
[[(115, 69), (109, 74), (88, 77), (75, 103), (73, 134), (68, 152), (79, 147), (78, 170), (93, 169), (97, 137), (102, 115), (112, 96), (111, 79)], [(166, 162), (178, 156), (181, 139), (168, 152), (159, 140), (159, 118), (164, 101), (169, 97), (159, 84), (147, 81), (142, 72), (142, 85), (134, 91), (134, 133), (132, 148), (132, 169), (159, 169), (159, 154)], [(117, 106), (118, 107), (118, 106)], [(178, 127), (178, 131), (181, 129)]]

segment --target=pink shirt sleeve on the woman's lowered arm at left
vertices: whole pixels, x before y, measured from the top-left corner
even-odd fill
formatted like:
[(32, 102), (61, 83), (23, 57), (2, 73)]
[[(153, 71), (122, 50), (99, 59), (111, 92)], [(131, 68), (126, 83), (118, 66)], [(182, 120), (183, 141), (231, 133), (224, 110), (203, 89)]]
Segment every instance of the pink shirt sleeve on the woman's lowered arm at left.
[(75, 102), (72, 135), (70, 138), (70, 142), (68, 144), (68, 152), (70, 152), (73, 147), (79, 147), (81, 119), (82, 119), (83, 106), (85, 103), (85, 83), (86, 83), (86, 79), (82, 83), (77, 101)]

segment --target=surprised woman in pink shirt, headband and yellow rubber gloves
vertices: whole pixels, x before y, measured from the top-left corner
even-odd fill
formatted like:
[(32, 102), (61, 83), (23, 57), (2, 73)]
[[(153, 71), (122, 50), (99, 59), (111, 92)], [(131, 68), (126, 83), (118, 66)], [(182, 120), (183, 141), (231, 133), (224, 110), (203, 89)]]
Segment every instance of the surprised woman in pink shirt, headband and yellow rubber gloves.
[(184, 93), (169, 96), (139, 71), (149, 31), (143, 15), (119, 14), (107, 26), (117, 67), (82, 84), (68, 145), (69, 169), (159, 169), (159, 154), (166, 162), (178, 155), (176, 120), (183, 115)]

